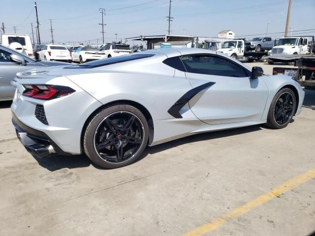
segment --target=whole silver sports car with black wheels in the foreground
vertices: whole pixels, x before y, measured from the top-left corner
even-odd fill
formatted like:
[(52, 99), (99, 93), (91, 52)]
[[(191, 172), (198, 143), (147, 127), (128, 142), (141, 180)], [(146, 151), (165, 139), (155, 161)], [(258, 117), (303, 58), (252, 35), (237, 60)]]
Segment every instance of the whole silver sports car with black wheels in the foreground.
[(234, 127), (284, 128), (304, 91), (291, 77), (263, 75), (219, 52), (148, 50), (20, 73), (12, 121), (34, 156), (86, 153), (118, 168), (146, 146)]

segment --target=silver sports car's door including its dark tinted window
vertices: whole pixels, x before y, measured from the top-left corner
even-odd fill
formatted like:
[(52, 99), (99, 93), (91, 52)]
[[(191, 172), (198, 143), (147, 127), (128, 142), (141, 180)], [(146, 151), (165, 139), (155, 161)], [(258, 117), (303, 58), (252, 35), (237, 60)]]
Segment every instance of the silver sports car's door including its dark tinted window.
[[(182, 61), (193, 88), (203, 88), (189, 101), (194, 115), (208, 124), (260, 120), (268, 98), (261, 77), (219, 55), (189, 55)], [(201, 86), (201, 87), (199, 87)]]

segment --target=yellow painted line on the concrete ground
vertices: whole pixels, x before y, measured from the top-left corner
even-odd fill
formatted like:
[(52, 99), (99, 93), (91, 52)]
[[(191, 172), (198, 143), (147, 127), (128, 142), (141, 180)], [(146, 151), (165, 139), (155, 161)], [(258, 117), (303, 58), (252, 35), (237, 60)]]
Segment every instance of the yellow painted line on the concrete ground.
[(303, 173), (297, 177), (294, 177), (284, 182), (282, 185), (272, 189), (268, 193), (265, 193), (259, 196), (258, 198), (255, 198), (251, 202), (248, 202), (247, 204), (241, 207), (237, 207), (236, 209), (221, 215), (220, 217), (214, 219), (209, 223), (199, 226), (198, 228), (186, 233), (184, 236), (201, 236), (211, 231), (214, 231), (215, 229), (218, 229), (219, 227), (224, 225), (227, 221), (235, 219), (245, 214), (246, 212), (252, 210), (253, 208), (258, 207), (266, 202), (269, 202), (271, 199), (275, 197), (279, 197), (281, 194), (299, 186), (302, 183), (305, 183), (311, 178), (315, 178), (315, 169), (312, 169), (306, 173)]

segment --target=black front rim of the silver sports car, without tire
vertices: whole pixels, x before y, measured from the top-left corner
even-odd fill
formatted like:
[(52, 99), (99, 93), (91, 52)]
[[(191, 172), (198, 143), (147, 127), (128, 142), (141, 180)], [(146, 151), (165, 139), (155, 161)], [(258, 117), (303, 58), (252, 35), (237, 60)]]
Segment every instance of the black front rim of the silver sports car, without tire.
[(274, 108), (274, 119), (277, 124), (286, 124), (293, 116), (294, 98), (291, 93), (284, 92), (278, 98)]

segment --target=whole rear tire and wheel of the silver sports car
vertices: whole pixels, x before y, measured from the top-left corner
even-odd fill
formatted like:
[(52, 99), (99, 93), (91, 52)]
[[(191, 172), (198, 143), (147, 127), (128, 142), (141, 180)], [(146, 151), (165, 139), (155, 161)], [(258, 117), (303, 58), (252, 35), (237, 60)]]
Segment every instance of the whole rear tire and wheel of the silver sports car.
[[(130, 124), (126, 116), (130, 120), (133, 117)], [(91, 118), (84, 133), (83, 148), (96, 165), (115, 169), (135, 162), (146, 148), (148, 138), (149, 126), (144, 115), (133, 106), (117, 103), (104, 107)]]

